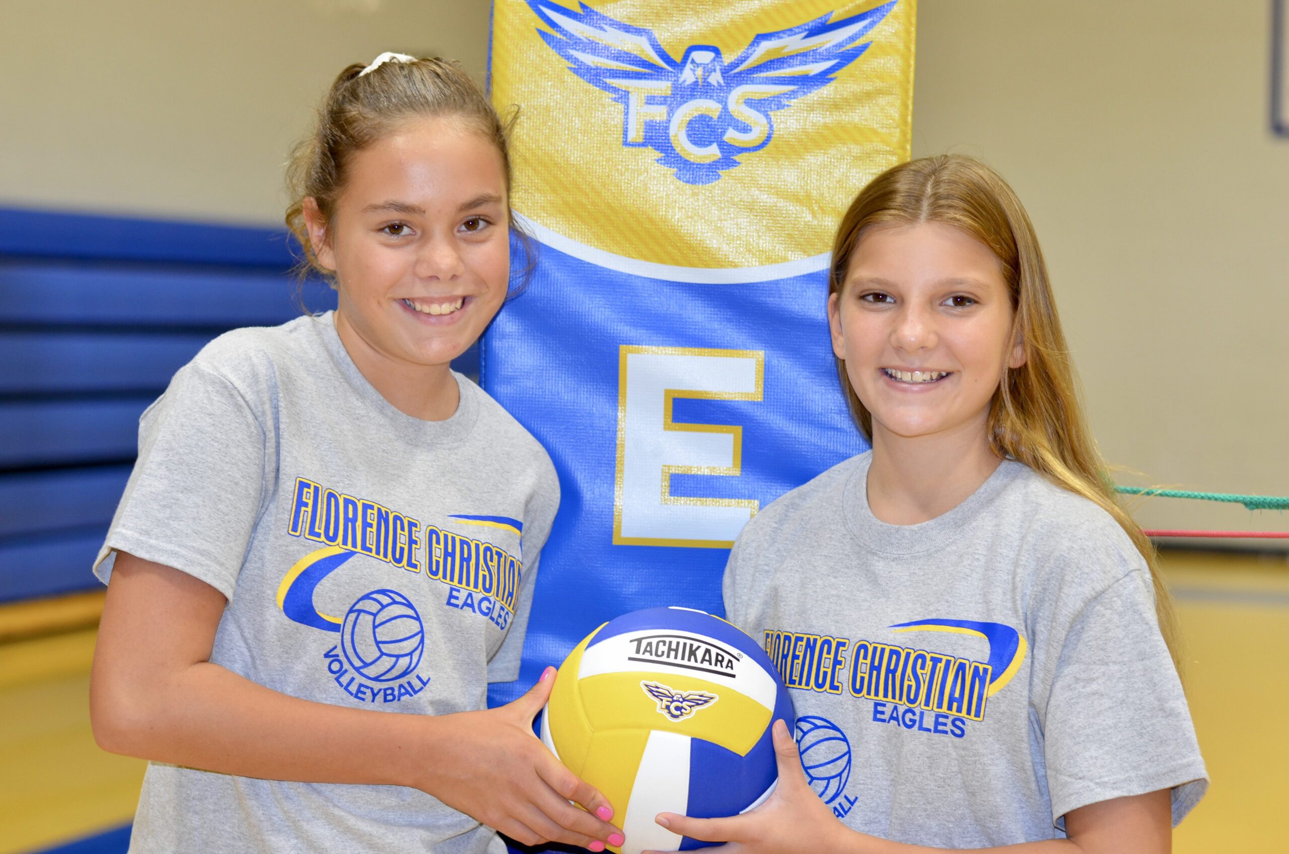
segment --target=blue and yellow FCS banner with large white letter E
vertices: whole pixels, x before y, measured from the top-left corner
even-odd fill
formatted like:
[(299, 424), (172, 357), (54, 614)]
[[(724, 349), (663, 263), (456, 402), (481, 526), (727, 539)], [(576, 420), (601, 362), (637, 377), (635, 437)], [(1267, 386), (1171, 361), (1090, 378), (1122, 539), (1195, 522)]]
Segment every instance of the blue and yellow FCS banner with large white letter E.
[(527, 289), (485, 388), (563, 501), (504, 702), (624, 611), (717, 614), (728, 547), (864, 449), (825, 302), (855, 194), (906, 160), (914, 0), (495, 0)]

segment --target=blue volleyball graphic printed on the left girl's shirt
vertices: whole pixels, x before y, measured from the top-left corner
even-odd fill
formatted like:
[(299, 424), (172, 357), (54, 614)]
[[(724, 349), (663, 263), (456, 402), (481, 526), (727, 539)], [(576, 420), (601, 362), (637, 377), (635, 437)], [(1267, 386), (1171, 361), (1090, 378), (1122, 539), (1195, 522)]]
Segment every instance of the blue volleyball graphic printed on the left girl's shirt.
[(356, 672), (373, 681), (402, 679), (420, 663), (424, 649), (420, 614), (396, 590), (365, 593), (344, 615), (340, 650)]

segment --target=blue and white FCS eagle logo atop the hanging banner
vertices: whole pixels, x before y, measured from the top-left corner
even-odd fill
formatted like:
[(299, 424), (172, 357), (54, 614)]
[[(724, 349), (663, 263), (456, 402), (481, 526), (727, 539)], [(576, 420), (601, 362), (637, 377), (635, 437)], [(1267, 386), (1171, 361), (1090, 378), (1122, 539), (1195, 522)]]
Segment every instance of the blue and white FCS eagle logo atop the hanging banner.
[(831, 83), (860, 58), (862, 41), (895, 0), (831, 21), (833, 13), (753, 37), (726, 62), (721, 48), (690, 45), (679, 59), (651, 30), (615, 21), (585, 3), (576, 10), (526, 0), (550, 31), (543, 41), (568, 70), (623, 107), (623, 144), (652, 148), (657, 163), (688, 184), (708, 184), (761, 151), (775, 135), (773, 115)]

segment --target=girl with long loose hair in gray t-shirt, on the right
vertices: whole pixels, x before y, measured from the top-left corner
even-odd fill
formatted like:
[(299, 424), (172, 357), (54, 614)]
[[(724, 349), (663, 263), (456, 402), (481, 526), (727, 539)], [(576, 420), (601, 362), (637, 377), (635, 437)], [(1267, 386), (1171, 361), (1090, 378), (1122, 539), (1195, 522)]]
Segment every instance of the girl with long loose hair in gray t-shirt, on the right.
[(758, 513), (724, 577), (797, 743), (775, 724), (755, 810), (659, 824), (735, 851), (1168, 851), (1208, 784), (1169, 599), (1016, 194), (962, 156), (883, 173), (828, 315), (873, 448)]

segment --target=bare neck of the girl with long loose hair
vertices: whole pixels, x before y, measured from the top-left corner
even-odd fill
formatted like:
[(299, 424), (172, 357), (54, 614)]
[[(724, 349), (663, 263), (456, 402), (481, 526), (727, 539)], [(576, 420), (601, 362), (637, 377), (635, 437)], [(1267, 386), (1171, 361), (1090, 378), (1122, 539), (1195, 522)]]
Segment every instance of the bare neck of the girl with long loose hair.
[(873, 424), (869, 510), (889, 525), (916, 525), (963, 503), (1003, 461), (985, 419), (951, 433), (897, 436)]

